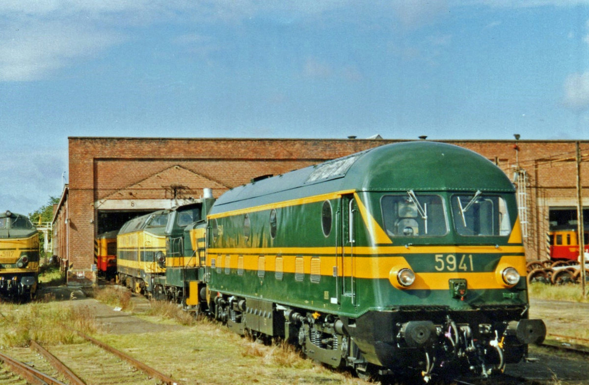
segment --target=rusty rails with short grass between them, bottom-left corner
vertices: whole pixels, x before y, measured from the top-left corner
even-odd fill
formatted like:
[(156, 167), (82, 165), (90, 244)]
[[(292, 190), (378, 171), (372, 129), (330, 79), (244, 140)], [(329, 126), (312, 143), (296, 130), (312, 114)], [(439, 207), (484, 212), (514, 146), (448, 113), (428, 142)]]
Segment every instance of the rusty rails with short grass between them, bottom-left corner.
[[(163, 373), (147, 366), (115, 348), (83, 333), (78, 334), (88, 341), (88, 347), (54, 347), (60, 358), (31, 341), (30, 348), (13, 349), (13, 356), (0, 353), (0, 383), (11, 385), (180, 385)], [(68, 350), (68, 351), (67, 351)], [(80, 352), (82, 352), (80, 354)], [(86, 380), (82, 380), (76, 373)], [(154, 382), (155, 381), (155, 382)]]

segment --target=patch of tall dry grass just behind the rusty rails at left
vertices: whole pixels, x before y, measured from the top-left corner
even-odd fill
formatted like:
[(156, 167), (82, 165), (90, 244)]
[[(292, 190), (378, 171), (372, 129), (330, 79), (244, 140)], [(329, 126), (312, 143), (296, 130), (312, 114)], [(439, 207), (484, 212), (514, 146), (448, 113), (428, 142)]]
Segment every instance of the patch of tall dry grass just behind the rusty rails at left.
[(88, 308), (71, 307), (64, 302), (0, 305), (0, 346), (24, 347), (30, 340), (46, 344), (71, 344), (83, 333), (97, 329)]

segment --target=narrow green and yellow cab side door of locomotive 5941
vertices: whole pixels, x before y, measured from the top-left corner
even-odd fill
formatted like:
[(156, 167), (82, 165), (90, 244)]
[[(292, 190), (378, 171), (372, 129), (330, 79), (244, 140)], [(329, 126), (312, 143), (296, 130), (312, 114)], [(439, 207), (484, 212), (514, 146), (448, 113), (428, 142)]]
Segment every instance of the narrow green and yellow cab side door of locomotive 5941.
[(341, 199), (340, 210), (342, 212), (342, 252), (340, 257), (341, 266), (341, 302), (356, 305), (355, 293), (355, 247), (356, 247), (356, 221), (358, 216), (358, 205), (353, 195), (344, 195)]

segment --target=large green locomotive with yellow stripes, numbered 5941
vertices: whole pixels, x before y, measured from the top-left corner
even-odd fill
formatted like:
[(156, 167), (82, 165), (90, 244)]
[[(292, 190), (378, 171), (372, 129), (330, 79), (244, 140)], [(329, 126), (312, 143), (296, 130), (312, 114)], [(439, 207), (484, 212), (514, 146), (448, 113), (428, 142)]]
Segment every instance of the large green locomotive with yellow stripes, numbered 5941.
[(545, 335), (514, 186), (461, 147), (391, 144), (237, 187), (209, 226), (216, 317), (332, 366), (487, 376)]

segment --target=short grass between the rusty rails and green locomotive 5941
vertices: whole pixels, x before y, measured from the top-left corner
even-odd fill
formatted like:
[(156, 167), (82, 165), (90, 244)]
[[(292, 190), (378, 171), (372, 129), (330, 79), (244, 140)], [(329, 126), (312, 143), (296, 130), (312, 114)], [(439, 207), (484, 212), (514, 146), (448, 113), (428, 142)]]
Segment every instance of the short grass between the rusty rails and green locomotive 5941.
[[(185, 384), (366, 384), (300, 357), (292, 347), (254, 343), (208, 319), (161, 332), (109, 333), (100, 340)], [(154, 354), (154, 346), (161, 354)]]

